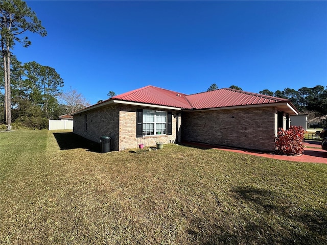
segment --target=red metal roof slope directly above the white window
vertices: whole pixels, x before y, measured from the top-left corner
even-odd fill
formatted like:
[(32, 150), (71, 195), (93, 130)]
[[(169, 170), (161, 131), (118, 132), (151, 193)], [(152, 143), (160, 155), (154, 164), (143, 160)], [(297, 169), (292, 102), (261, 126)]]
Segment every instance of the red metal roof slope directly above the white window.
[(185, 100), (185, 94), (154, 86), (146, 86), (143, 88), (135, 89), (130, 92), (113, 96), (112, 99), (192, 109), (188, 101)]

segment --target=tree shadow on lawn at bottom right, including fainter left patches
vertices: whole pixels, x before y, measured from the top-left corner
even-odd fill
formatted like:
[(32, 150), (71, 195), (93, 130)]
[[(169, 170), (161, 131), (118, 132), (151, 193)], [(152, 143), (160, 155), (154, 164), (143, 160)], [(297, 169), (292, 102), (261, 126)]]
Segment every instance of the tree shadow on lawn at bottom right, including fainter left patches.
[(283, 193), (236, 187), (232, 213), (194, 218), (193, 244), (325, 244), (327, 210), (301, 209)]

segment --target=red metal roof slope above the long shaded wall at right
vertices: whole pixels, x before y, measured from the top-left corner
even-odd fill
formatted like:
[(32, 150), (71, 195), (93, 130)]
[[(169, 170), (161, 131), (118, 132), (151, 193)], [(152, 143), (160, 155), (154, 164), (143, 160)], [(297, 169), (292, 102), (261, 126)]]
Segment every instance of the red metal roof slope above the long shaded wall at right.
[(185, 96), (193, 109), (220, 108), (229, 106), (261, 105), (289, 102), (287, 99), (236, 89), (222, 88), (214, 91)]

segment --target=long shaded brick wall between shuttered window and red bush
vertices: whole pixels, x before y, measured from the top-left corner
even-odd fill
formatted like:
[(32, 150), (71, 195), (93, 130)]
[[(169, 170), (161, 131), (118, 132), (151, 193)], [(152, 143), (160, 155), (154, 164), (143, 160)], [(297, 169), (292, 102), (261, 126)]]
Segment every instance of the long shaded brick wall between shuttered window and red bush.
[(182, 140), (274, 151), (275, 108), (260, 107), (182, 113)]

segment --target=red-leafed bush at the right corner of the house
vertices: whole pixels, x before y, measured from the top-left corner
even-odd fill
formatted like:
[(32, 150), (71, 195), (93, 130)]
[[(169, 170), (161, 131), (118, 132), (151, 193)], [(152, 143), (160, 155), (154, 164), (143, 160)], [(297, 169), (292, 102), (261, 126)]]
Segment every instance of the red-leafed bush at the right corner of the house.
[(305, 151), (303, 145), (305, 130), (299, 126), (291, 126), (290, 129), (278, 129), (276, 138), (276, 152), (283, 155), (299, 155)]

